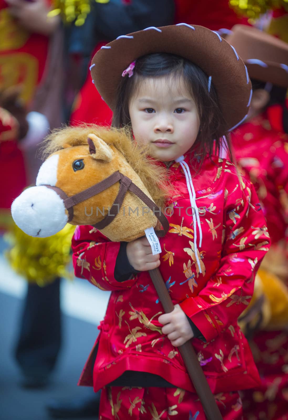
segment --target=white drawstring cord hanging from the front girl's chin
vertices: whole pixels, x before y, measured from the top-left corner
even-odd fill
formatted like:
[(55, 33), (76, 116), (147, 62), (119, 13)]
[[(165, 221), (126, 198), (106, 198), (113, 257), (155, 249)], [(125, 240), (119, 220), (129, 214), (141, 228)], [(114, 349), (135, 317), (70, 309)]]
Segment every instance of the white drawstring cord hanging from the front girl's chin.
[[(199, 268), (199, 273), (202, 273), (200, 260), (199, 260), (198, 252), (197, 252), (197, 225), (198, 225), (198, 228), (199, 228), (199, 247), (202, 246), (202, 228), (201, 228), (201, 223), (200, 223), (199, 210), (198, 210), (198, 207), (196, 205), (196, 192), (195, 192), (195, 189), (194, 189), (190, 169), (189, 169), (189, 166), (187, 165), (187, 163), (184, 161), (184, 156), (182, 155), (182, 156), (178, 157), (177, 159), (175, 159), (175, 162), (180, 163), (180, 165), (183, 169), (183, 172), (185, 174), (185, 178), (186, 178), (186, 185), (187, 185), (188, 192), (189, 192), (190, 204), (191, 204), (191, 207), (192, 207), (192, 215), (193, 215), (194, 252), (195, 252), (197, 265), (198, 265), (198, 268)], [(197, 220), (197, 223), (196, 223), (196, 220)]]

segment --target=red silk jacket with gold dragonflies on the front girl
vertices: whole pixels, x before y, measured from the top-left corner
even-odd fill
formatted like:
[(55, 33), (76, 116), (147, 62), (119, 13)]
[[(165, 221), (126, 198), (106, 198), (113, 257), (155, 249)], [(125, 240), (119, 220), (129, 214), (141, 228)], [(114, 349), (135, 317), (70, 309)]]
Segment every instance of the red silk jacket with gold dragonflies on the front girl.
[[(189, 162), (189, 156), (185, 161)], [(178, 163), (170, 174), (181, 194), (171, 199), (170, 229), (160, 239), (163, 279), (173, 304), (181, 305), (206, 339), (192, 341), (212, 392), (255, 387), (259, 375), (237, 325), (251, 299), (255, 271), (270, 244), (254, 187), (246, 179), (239, 181), (229, 161), (205, 158), (193, 178), (203, 232), (198, 249), (201, 274), (195, 264), (185, 176)], [(195, 392), (178, 349), (162, 334), (158, 317), (163, 308), (149, 274), (141, 272), (121, 283), (115, 280), (119, 247), (119, 242), (109, 241), (92, 226), (79, 226), (72, 239), (75, 275), (112, 292), (79, 384), (94, 384), (97, 391), (126, 370), (134, 370), (139, 375), (142, 371), (160, 375), (176, 387)]]

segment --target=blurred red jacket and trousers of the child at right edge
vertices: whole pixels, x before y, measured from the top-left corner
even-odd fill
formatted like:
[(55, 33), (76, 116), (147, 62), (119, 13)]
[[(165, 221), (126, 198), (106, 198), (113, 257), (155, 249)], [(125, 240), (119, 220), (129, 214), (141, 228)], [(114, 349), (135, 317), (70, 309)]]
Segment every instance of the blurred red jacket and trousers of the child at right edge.
[[(232, 134), (236, 160), (249, 174), (267, 219), (271, 243), (288, 257), (288, 135), (274, 131), (268, 112)], [(281, 247), (280, 247), (281, 244)], [(282, 251), (283, 252), (283, 251)], [(246, 420), (288, 419), (288, 333), (259, 331), (251, 341), (262, 385), (244, 392)]]

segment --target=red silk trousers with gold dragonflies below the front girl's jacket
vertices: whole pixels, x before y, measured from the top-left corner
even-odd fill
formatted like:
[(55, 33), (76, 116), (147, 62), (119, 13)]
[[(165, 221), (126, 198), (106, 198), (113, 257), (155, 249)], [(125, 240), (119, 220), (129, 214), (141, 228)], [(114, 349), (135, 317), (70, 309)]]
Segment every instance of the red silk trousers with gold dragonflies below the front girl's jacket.
[[(241, 420), (238, 392), (215, 395), (223, 420)], [(180, 388), (106, 386), (101, 391), (99, 420), (206, 420), (196, 394)]]

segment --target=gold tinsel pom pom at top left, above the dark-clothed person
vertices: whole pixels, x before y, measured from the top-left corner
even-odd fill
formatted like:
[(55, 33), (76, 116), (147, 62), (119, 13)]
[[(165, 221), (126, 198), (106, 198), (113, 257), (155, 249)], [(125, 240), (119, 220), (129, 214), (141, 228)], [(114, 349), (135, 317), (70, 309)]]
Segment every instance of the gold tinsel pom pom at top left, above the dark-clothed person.
[[(95, 0), (96, 3), (108, 3), (109, 0)], [(65, 23), (74, 22), (76, 26), (84, 24), (91, 10), (91, 0), (52, 0), (48, 16), (60, 15)]]

